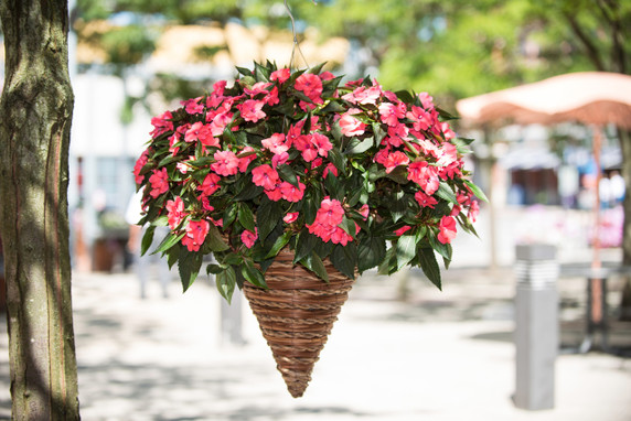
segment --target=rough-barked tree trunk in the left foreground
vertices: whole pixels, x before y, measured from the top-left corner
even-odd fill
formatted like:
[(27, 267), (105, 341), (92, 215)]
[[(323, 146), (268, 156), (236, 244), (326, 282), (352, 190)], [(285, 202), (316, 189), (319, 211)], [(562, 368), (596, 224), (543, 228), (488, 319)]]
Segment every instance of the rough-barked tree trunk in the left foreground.
[(14, 420), (78, 420), (67, 171), (66, 0), (2, 0), (0, 234)]

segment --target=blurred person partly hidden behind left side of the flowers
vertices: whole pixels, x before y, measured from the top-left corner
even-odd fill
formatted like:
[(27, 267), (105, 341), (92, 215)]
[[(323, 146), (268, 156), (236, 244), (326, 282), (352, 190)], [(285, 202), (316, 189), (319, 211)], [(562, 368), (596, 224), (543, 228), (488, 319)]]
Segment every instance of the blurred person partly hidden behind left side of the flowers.
[[(127, 206), (127, 212), (125, 219), (129, 224), (129, 240), (127, 241), (127, 248), (129, 252), (133, 256), (133, 267), (136, 269), (136, 274), (140, 282), (140, 298), (147, 298), (147, 283), (151, 274), (151, 268), (153, 267), (158, 274), (158, 280), (162, 287), (162, 296), (169, 298), (169, 283), (171, 282), (171, 271), (169, 270), (169, 265), (167, 259), (160, 258), (159, 255), (150, 255), (147, 252), (141, 256), (141, 242), (142, 237), (147, 229), (140, 225), (138, 222), (142, 217), (142, 191), (139, 191), (129, 199)], [(154, 236), (157, 238), (163, 238), (169, 234), (168, 227), (157, 227)]]

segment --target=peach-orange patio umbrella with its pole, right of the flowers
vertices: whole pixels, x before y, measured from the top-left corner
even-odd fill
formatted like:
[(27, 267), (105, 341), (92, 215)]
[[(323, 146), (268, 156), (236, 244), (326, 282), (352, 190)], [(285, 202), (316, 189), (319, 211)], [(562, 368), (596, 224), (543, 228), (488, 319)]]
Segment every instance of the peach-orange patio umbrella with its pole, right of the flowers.
[[(618, 73), (585, 72), (550, 77), (533, 84), (462, 99), (456, 105), (466, 122), (477, 126), (516, 123), (554, 125), (576, 121), (593, 126), (593, 158), (597, 166), (596, 227), (591, 267), (600, 269), (598, 204), (600, 181), (600, 143), (602, 126), (613, 123), (631, 130), (631, 76)], [(601, 284), (596, 282), (592, 316), (602, 316)]]

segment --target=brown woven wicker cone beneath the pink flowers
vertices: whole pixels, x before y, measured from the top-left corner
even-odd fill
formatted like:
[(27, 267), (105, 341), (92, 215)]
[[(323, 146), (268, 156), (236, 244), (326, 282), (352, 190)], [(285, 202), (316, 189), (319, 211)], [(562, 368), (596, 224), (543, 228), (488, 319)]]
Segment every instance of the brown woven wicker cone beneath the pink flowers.
[(327, 259), (329, 283), (301, 266), (293, 252), (280, 251), (265, 273), (268, 290), (248, 282), (244, 293), (271, 348), (277, 368), (293, 398), (304, 393), (313, 365), (324, 347), (353, 280)]

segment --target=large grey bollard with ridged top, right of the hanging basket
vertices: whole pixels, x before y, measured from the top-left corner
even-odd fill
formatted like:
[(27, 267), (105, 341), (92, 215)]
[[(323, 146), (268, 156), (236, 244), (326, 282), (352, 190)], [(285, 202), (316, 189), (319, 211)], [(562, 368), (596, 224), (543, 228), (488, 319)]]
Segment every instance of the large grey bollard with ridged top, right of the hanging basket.
[(559, 267), (556, 247), (516, 247), (515, 363), (517, 408), (554, 408), (555, 359), (558, 354)]

